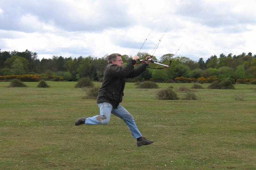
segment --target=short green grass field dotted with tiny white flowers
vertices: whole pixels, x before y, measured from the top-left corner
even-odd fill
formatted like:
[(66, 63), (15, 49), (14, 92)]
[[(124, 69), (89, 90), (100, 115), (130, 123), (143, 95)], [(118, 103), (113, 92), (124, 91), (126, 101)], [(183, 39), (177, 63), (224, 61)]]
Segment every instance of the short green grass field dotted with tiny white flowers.
[(201, 84), (194, 92), (200, 100), (168, 101), (156, 100), (159, 89), (126, 83), (122, 105), (155, 141), (137, 147), (114, 115), (108, 125), (75, 126), (76, 118), (99, 113), (96, 100), (81, 99), (76, 82), (9, 84), (0, 82), (0, 169), (256, 169), (256, 85), (215, 90)]

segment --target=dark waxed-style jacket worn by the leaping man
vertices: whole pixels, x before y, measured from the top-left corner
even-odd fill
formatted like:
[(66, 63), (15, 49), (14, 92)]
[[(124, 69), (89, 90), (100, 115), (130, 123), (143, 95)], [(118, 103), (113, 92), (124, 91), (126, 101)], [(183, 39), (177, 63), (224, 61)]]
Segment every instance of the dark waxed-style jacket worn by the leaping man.
[(115, 64), (108, 64), (105, 67), (97, 103), (107, 102), (117, 108), (123, 100), (125, 79), (139, 76), (148, 67), (147, 63), (143, 63), (140, 67), (134, 69), (135, 63), (136, 61), (132, 60), (124, 67), (119, 67)]

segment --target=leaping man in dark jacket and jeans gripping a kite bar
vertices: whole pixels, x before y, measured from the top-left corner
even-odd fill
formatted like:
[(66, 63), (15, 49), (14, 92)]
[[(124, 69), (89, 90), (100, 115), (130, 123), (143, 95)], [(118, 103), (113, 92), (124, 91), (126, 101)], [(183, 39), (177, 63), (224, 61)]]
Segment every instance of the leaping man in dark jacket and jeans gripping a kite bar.
[[(146, 57), (146, 59), (149, 58), (149, 56)], [(154, 143), (154, 141), (149, 141), (142, 137), (133, 116), (120, 105), (124, 96), (125, 79), (139, 76), (146, 70), (150, 63), (150, 61), (147, 61), (140, 67), (134, 69), (134, 64), (136, 64), (136, 61), (139, 59), (138, 56), (133, 56), (132, 60), (123, 67), (121, 54), (113, 53), (108, 56), (108, 65), (105, 67), (102, 86), (97, 97), (100, 115), (78, 118), (75, 125), (108, 124), (112, 113), (124, 120), (132, 136), (137, 139), (137, 146)]]

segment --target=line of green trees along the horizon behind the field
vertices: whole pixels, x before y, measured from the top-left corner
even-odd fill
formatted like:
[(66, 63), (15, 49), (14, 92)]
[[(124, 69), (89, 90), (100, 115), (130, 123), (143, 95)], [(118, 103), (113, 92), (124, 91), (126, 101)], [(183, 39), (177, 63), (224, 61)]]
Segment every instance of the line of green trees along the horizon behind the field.
[[(140, 58), (145, 58), (148, 53), (139, 53)], [(0, 75), (21, 75), (21, 74), (42, 74), (59, 75), (66, 81), (77, 81), (83, 77), (89, 77), (94, 81), (100, 81), (103, 77), (104, 68), (107, 65), (108, 54), (97, 58), (91, 55), (87, 57), (62, 57), (52, 56), (50, 59), (38, 59), (36, 52), (26, 50), (1, 51), (0, 50)], [(132, 59), (132, 56), (121, 56), (125, 65)], [(216, 76), (218, 78), (250, 79), (256, 78), (256, 54), (242, 53), (227, 56), (223, 53), (220, 56), (212, 55), (206, 61), (200, 58), (198, 61), (188, 57), (175, 57), (173, 54), (164, 54), (159, 59), (153, 56), (153, 60), (168, 64), (172, 63), (167, 69), (147, 69), (135, 81), (154, 80), (163, 82), (174, 80), (177, 77), (198, 78)], [(141, 63), (140, 63), (141, 64)], [(135, 67), (138, 67), (137, 64)], [(152, 68), (163, 66), (151, 64)]]

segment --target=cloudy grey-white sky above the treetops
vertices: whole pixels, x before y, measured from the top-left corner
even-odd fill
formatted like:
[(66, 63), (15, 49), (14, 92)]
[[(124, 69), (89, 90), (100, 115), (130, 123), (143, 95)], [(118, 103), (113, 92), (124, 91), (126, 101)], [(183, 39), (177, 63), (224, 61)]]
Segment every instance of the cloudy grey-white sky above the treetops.
[(254, 55), (255, 8), (255, 0), (0, 0), (0, 49), (39, 59)]

